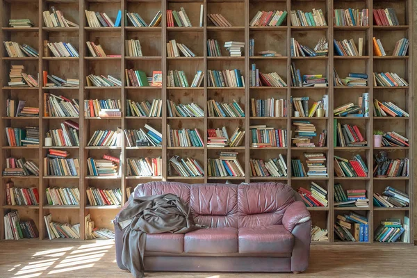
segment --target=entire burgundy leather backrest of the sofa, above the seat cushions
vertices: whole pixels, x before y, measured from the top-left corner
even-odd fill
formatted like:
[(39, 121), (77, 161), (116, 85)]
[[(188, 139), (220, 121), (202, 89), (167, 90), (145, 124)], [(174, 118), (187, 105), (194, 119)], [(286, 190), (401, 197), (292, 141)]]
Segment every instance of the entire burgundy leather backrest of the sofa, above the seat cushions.
[(152, 181), (136, 186), (134, 197), (172, 193), (188, 204), (197, 224), (212, 228), (282, 224), (295, 191), (284, 183), (192, 184)]

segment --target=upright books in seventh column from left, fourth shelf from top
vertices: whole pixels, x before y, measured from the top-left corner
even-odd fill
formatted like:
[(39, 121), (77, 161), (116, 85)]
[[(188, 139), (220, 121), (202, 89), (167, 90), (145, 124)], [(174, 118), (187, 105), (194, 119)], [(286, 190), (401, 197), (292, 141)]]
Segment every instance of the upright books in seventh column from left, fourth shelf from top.
[(287, 101), (285, 99), (250, 99), (252, 117), (286, 117)]

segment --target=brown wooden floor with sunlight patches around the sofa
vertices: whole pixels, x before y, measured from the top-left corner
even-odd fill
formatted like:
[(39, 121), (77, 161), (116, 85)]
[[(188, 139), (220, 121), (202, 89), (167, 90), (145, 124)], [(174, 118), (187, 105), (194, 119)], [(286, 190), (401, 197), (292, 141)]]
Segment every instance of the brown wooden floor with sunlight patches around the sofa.
[[(112, 240), (95, 243), (0, 243), (0, 277), (132, 277), (115, 263)], [(313, 245), (309, 269), (288, 273), (147, 272), (146, 277), (249, 278), (249, 277), (417, 277), (417, 246)]]

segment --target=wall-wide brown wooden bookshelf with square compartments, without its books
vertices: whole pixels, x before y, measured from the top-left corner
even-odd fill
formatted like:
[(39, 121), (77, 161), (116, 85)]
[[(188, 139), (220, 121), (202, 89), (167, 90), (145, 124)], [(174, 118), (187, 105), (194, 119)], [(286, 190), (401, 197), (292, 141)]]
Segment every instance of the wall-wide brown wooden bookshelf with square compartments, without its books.
[[(384, 218), (403, 218), (408, 216), (411, 220), (410, 226), (410, 244), (414, 243), (414, 204), (411, 203), (408, 208), (374, 208), (372, 202), (373, 193), (381, 193), (385, 186), (393, 186), (409, 193), (410, 199), (413, 199), (414, 192), (414, 173), (411, 170), (407, 178), (390, 178), (381, 179), (374, 177), (366, 178), (338, 178), (333, 172), (333, 156), (339, 155), (350, 157), (352, 154), (361, 154), (366, 159), (368, 168), (373, 169), (373, 155), (379, 152), (379, 149), (373, 147), (373, 130), (382, 129), (384, 131), (398, 131), (414, 143), (413, 125), (414, 125), (414, 84), (413, 84), (413, 67), (412, 52), (413, 48), (409, 47), (408, 56), (402, 57), (375, 57), (373, 56), (373, 36), (381, 38), (384, 47), (389, 51), (393, 50), (395, 42), (400, 38), (409, 38), (412, 42), (412, 1), (309, 1), (309, 0), (284, 0), (284, 1), (259, 1), (259, 0), (195, 0), (195, 1), (158, 1), (158, 0), (22, 0), (1, 2), (1, 20), (0, 20), (0, 41), (12, 40), (19, 43), (26, 43), (31, 47), (38, 47), (39, 58), (8, 58), (3, 44), (0, 45), (0, 130), (3, 132), (8, 126), (34, 125), (40, 128), (40, 147), (8, 147), (7, 139), (4, 132), (0, 136), (1, 159), (0, 168), (3, 170), (6, 158), (9, 156), (25, 157), (38, 163), (40, 167), (39, 177), (2, 177), (0, 185), (0, 239), (4, 238), (3, 215), (10, 208), (19, 211), (22, 218), (32, 218), (37, 224), (40, 231), (40, 240), (47, 239), (47, 231), (44, 226), (44, 215), (52, 213), (53, 220), (58, 222), (70, 222), (71, 224), (81, 223), (81, 239), (85, 238), (84, 217), (90, 213), (92, 220), (95, 221), (96, 227), (107, 227), (112, 229), (111, 220), (119, 211), (120, 206), (89, 206), (85, 193), (88, 186), (97, 188), (120, 188), (122, 191), (123, 202), (126, 202), (126, 188), (132, 190), (138, 183), (147, 181), (181, 181), (186, 183), (224, 183), (229, 180), (231, 183), (241, 183), (250, 181), (280, 181), (290, 184), (295, 190), (299, 187), (308, 188), (310, 181), (315, 181), (320, 186), (328, 190), (329, 206), (313, 207), (309, 211), (313, 218), (313, 224), (328, 229), (329, 243), (341, 243), (336, 239), (333, 232), (333, 224), (338, 213), (349, 211), (349, 208), (334, 208), (333, 206), (333, 185), (341, 183), (344, 189), (363, 189), (367, 190), (367, 196), (370, 198), (369, 208), (352, 208), (361, 215), (366, 215), (370, 223), (370, 243), (373, 243), (373, 232), (378, 222)], [(204, 27), (199, 27), (199, 7), (204, 5)], [(42, 12), (55, 6), (57, 10), (63, 11), (65, 17), (72, 22), (79, 24), (79, 28), (46, 28), (44, 27)], [(179, 10), (185, 8), (193, 27), (179, 28), (166, 26), (166, 10)], [(373, 26), (373, 8), (395, 9), (400, 26)], [(311, 11), (312, 8), (321, 8), (325, 12), (327, 24), (329, 26), (318, 27), (293, 27), (291, 26), (290, 16), (287, 16), (286, 22), (277, 27), (250, 27), (249, 22), (258, 10), (303, 10)], [(370, 26), (333, 26), (333, 9), (334, 8), (368, 8), (370, 11)], [(115, 18), (117, 10), (127, 10), (129, 12), (139, 13), (146, 22), (154, 17), (158, 10), (163, 13), (161, 26), (152, 28), (138, 28), (130, 24), (126, 25), (122, 19), (122, 26), (115, 28), (91, 28), (85, 19), (84, 10), (95, 10), (106, 12), (111, 18)], [(228, 12), (229, 11), (229, 12)], [(222, 13), (233, 27), (215, 27), (211, 22), (206, 20), (207, 13)], [(29, 18), (34, 23), (33, 28), (10, 28), (8, 19)], [(329, 56), (326, 57), (291, 57), (290, 45), (291, 38), (302, 40), (302, 42), (312, 47), (316, 45), (318, 38), (326, 37), (329, 42)], [(333, 40), (341, 40), (363, 37), (365, 42), (364, 56), (361, 57), (341, 57), (334, 56)], [(255, 39), (255, 53), (260, 50), (272, 49), (279, 52), (282, 57), (260, 57), (249, 56), (248, 42), (250, 38)], [(124, 40), (139, 39), (142, 45), (143, 57), (129, 57), (124, 53)], [(197, 57), (195, 58), (168, 58), (165, 50), (166, 43), (175, 39), (177, 42), (186, 44), (192, 49)], [(219, 44), (224, 44), (227, 40), (237, 40), (245, 42), (243, 57), (208, 57), (206, 40), (215, 39)], [(55, 58), (44, 57), (43, 40), (51, 42), (71, 42), (79, 51), (79, 58)], [(87, 41), (94, 41), (102, 45), (107, 54), (120, 54), (121, 58), (93, 58), (90, 57), (88, 48), (85, 44)], [(227, 54), (223, 49), (222, 54)], [(291, 63), (294, 62), (297, 67), (302, 67), (302, 74), (320, 73), (325, 74), (329, 80), (327, 88), (296, 88), (291, 87), (291, 73), (288, 71)], [(288, 87), (270, 88), (270, 87), (250, 87), (250, 65), (256, 63), (263, 72), (277, 72), (281, 77), (286, 79)], [(8, 71), (10, 65), (25, 65), (26, 72), (30, 74), (41, 74), (43, 70), (54, 72), (58, 76), (69, 78), (78, 78), (80, 80), (79, 88), (10, 88), (7, 85)], [(346, 72), (366, 72), (369, 76), (368, 81), (372, 82), (373, 72), (398, 72), (400, 76), (409, 82), (407, 88), (380, 88), (373, 87), (372, 83), (368, 87), (362, 88), (334, 88), (333, 85), (333, 68), (336, 68), (342, 76)], [(147, 76), (152, 76), (153, 70), (163, 72), (162, 88), (153, 87), (128, 87), (125, 85), (124, 69), (133, 68), (143, 70)], [(245, 77), (245, 88), (209, 88), (206, 82), (207, 70), (224, 70), (238, 68)], [(188, 81), (193, 79), (197, 70), (205, 72), (204, 83), (201, 88), (168, 88), (166, 84), (167, 70), (184, 70), (188, 76)], [(342, 74), (341, 74), (342, 73)], [(97, 88), (88, 87), (85, 82), (85, 76), (88, 74), (112, 74), (122, 80), (121, 87), (114, 88)], [(80, 117), (43, 117), (44, 102), (43, 95), (45, 92), (57, 93), (73, 98), (78, 98), (80, 103)], [(341, 104), (352, 101), (357, 102), (357, 97), (363, 93), (369, 92), (369, 99), (393, 100), (395, 104), (404, 108), (410, 114), (410, 117), (374, 117), (370, 113), (369, 117), (346, 118), (334, 117), (333, 108)], [(289, 101), (291, 96), (302, 97), (309, 96), (310, 99), (321, 99), (322, 95), (329, 95), (329, 116), (321, 118), (304, 118), (312, 120), (320, 129), (327, 129), (328, 136), (326, 147), (316, 148), (297, 148), (291, 147), (291, 125), (293, 120), (302, 120), (303, 118), (291, 117), (250, 117), (250, 99), (256, 98), (283, 98)], [(26, 100), (27, 104), (40, 107), (40, 117), (6, 117), (6, 99)], [(122, 117), (99, 118), (84, 117), (83, 101), (84, 99), (120, 99), (122, 104)], [(125, 100), (134, 99), (143, 101), (145, 99), (162, 99), (163, 113), (162, 117), (126, 117)], [(206, 117), (167, 117), (166, 101), (174, 99), (177, 103), (179, 99), (186, 103), (195, 102), (204, 108)], [(245, 117), (207, 117), (206, 101), (215, 99), (217, 101), (230, 102), (233, 99), (239, 99), (240, 104), (244, 107)], [(370, 107), (372, 104), (370, 103)], [(47, 154), (49, 147), (44, 146), (45, 132), (49, 128), (56, 128), (60, 122), (65, 119), (74, 120), (80, 126), (79, 137), (80, 147), (54, 147), (57, 149), (66, 149), (70, 152), (72, 158), (79, 158), (81, 164), (81, 177), (44, 177), (43, 176), (43, 158)], [(350, 124), (357, 124), (361, 131), (365, 131), (366, 140), (369, 147), (350, 148), (350, 147), (333, 147), (334, 119)], [(156, 129), (161, 130), (163, 140), (166, 139), (166, 124), (178, 128), (197, 127), (204, 136), (206, 145), (206, 130), (221, 126), (242, 126), (246, 131), (243, 145), (239, 147), (211, 148), (211, 147), (86, 147), (90, 136), (97, 129), (134, 129), (143, 126), (145, 123), (151, 124)], [(252, 124), (267, 124), (275, 128), (286, 129), (288, 132), (288, 147), (275, 147), (270, 149), (256, 149), (250, 147), (249, 127)], [(165, 141), (166, 142), (166, 141)], [(389, 154), (398, 157), (408, 157), (411, 166), (414, 165), (414, 145), (410, 147), (392, 147), (382, 148)], [(167, 175), (169, 159), (172, 155), (177, 154), (181, 157), (190, 156), (204, 165), (207, 172), (207, 158), (215, 158), (222, 150), (235, 150), (239, 152), (238, 160), (245, 169), (246, 177), (178, 177)], [(325, 178), (300, 178), (291, 177), (291, 158), (302, 158), (304, 152), (324, 152), (327, 156), (327, 169), (329, 177)], [(86, 159), (89, 157), (99, 158), (104, 154), (121, 156), (122, 175), (112, 177), (111, 179), (103, 177), (88, 176), (88, 167)], [(276, 158), (278, 154), (286, 157), (288, 165), (288, 177), (249, 177), (250, 158)], [(161, 177), (127, 177), (126, 176), (126, 159), (146, 156), (161, 156), (163, 158), (163, 175)], [(30, 187), (37, 186), (40, 193), (40, 204), (38, 206), (7, 206), (5, 196), (5, 184), (8, 181), (14, 181), (15, 186)], [(48, 186), (74, 186), (78, 187), (81, 194), (80, 206), (49, 206), (47, 205), (45, 189)], [(106, 208), (106, 209), (102, 209)], [(317, 243), (317, 244), (322, 244)], [(341, 244), (369, 244), (369, 243), (341, 243)], [(387, 244), (387, 243), (385, 243)], [(397, 243), (398, 244), (398, 243)]]

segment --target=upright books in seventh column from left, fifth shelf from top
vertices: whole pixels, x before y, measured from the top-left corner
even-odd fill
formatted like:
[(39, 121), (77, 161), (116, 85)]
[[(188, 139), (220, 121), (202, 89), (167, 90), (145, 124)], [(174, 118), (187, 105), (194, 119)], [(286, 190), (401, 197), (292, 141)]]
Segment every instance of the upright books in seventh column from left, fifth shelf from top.
[(266, 124), (250, 126), (250, 147), (287, 147), (287, 130), (274, 129)]

